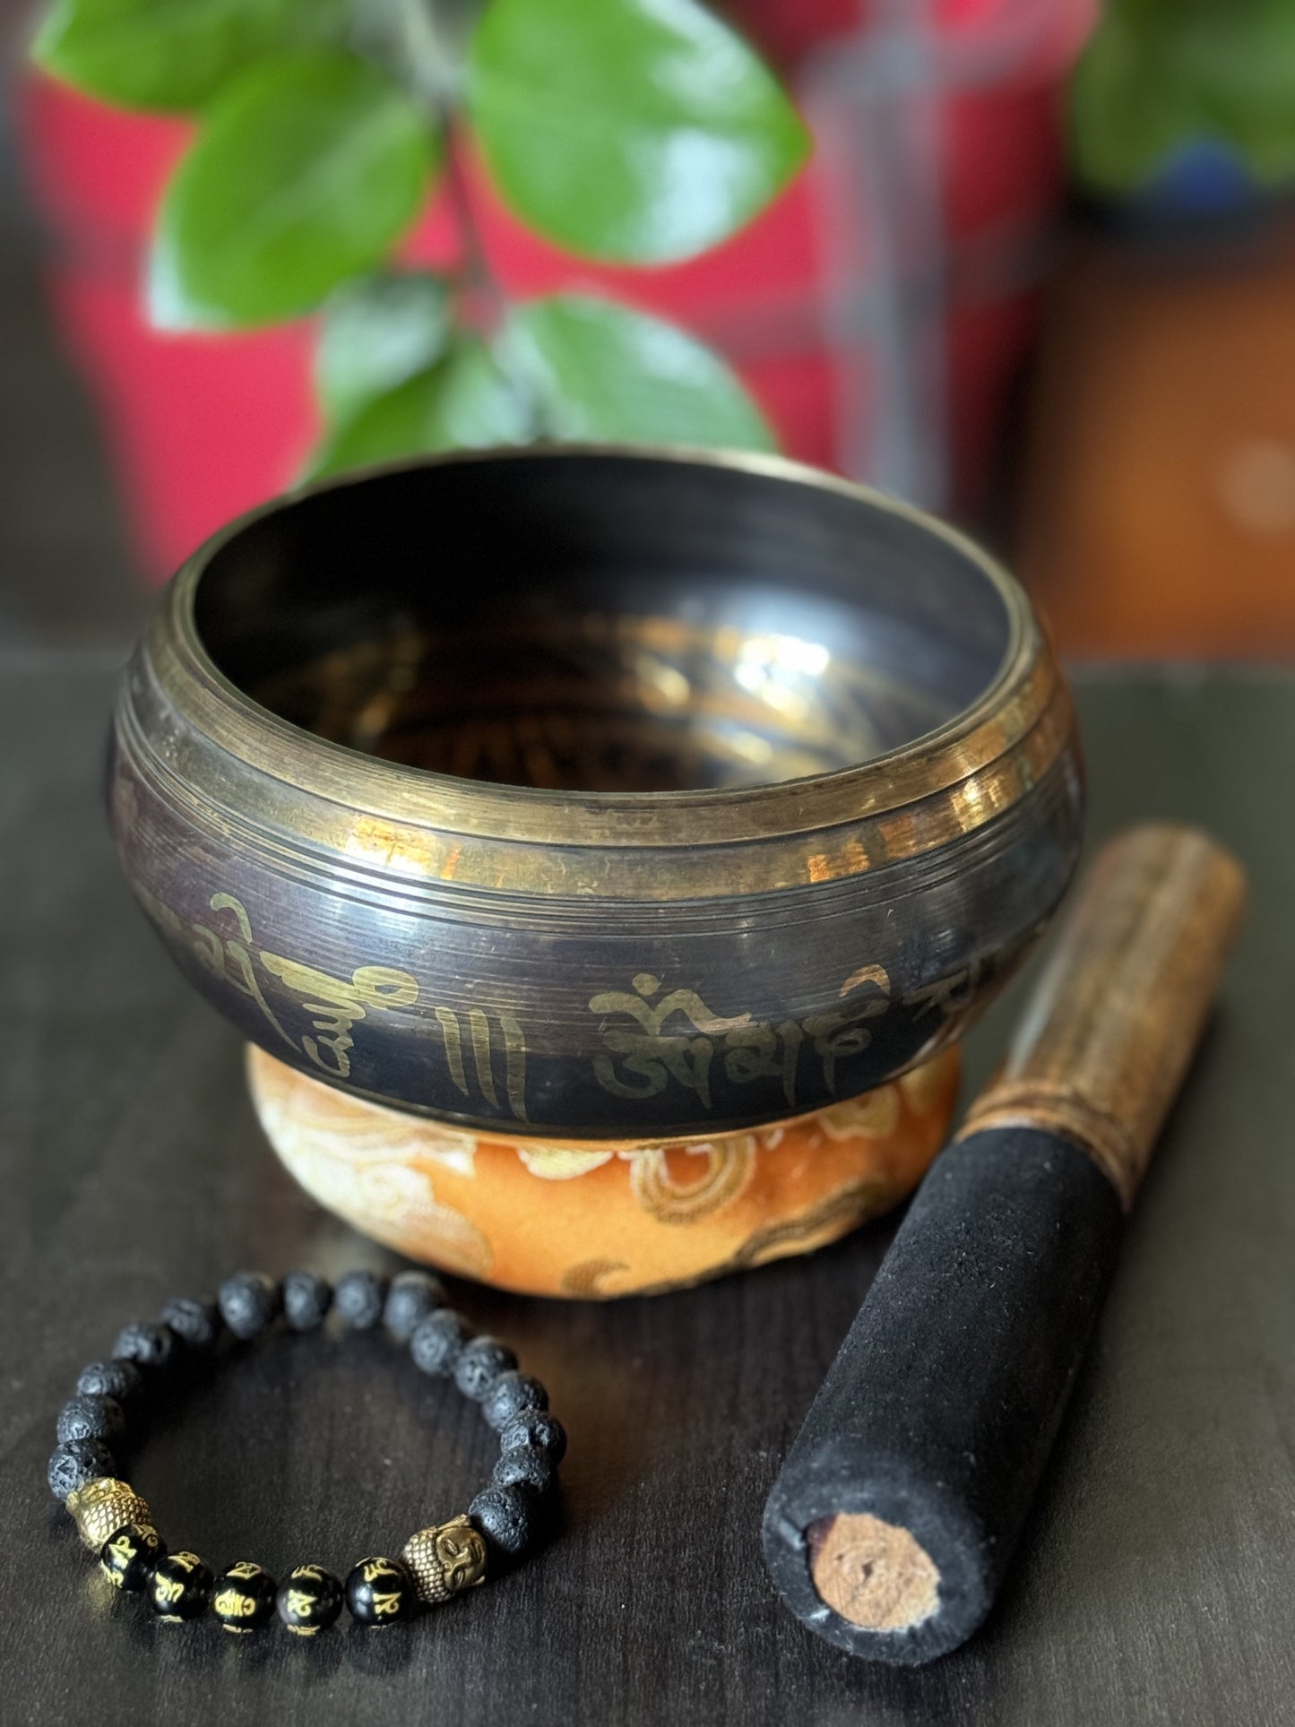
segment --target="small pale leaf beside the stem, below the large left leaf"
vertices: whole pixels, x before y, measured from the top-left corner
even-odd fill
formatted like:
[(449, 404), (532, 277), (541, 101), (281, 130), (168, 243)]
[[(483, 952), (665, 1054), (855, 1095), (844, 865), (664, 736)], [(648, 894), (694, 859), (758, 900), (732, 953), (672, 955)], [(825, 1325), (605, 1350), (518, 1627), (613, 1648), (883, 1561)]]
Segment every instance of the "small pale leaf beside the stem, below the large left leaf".
[(364, 276), (325, 306), (314, 389), (328, 420), (354, 420), (375, 395), (426, 371), (449, 342), (449, 292), (439, 276)]

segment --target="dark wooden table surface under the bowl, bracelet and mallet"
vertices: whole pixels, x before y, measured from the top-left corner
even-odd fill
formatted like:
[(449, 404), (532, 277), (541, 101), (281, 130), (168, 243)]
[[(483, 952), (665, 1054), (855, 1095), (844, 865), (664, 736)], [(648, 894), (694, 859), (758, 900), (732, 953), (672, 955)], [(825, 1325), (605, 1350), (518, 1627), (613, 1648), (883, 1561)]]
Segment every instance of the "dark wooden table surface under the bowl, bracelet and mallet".
[[(295, 1192), (235, 1036), (104, 838), (102, 658), (0, 660), (0, 1717), (5, 1722), (1295, 1720), (1295, 679), (1083, 684), (1093, 831), (1207, 822), (1254, 912), (1162, 1145), (1015, 1573), (924, 1672), (796, 1625), (760, 1509), (889, 1238), (611, 1306), (463, 1287), (568, 1421), (566, 1527), (442, 1615), (316, 1644), (157, 1625), (76, 1544), (55, 1411), (121, 1321), (242, 1264), (388, 1264)], [(1003, 1010), (981, 1028), (982, 1074)], [(285, 1340), (159, 1420), (130, 1468), (173, 1544), (333, 1568), (466, 1504), (485, 1430), (382, 1338)]]

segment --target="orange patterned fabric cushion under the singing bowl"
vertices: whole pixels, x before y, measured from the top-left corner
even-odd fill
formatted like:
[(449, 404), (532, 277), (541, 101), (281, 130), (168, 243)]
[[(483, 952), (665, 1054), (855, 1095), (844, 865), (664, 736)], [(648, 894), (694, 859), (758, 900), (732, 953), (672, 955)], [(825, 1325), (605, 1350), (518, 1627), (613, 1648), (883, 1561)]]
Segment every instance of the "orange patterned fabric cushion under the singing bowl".
[(944, 1143), (960, 1055), (708, 1142), (485, 1138), (249, 1048), (261, 1126), (307, 1193), (413, 1259), (528, 1295), (644, 1295), (808, 1254), (905, 1199)]

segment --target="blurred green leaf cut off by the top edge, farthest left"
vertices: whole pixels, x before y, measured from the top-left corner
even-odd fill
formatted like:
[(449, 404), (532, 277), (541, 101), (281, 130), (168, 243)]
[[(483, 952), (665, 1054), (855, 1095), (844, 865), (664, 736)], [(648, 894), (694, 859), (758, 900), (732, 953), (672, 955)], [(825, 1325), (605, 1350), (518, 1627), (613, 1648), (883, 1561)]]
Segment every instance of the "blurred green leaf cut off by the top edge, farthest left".
[(200, 107), (268, 54), (335, 38), (342, 0), (55, 0), (33, 55), (119, 107)]

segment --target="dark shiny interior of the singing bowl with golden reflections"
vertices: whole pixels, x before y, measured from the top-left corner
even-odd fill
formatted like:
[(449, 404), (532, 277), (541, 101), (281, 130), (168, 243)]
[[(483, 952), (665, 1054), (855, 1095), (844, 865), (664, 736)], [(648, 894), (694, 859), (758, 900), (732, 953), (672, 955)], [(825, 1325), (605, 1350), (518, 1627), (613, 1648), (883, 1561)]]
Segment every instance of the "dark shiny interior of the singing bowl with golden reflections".
[(986, 565), (741, 466), (572, 451), (337, 485), (223, 541), (218, 668), (292, 724), (464, 779), (691, 791), (853, 767), (993, 682)]

